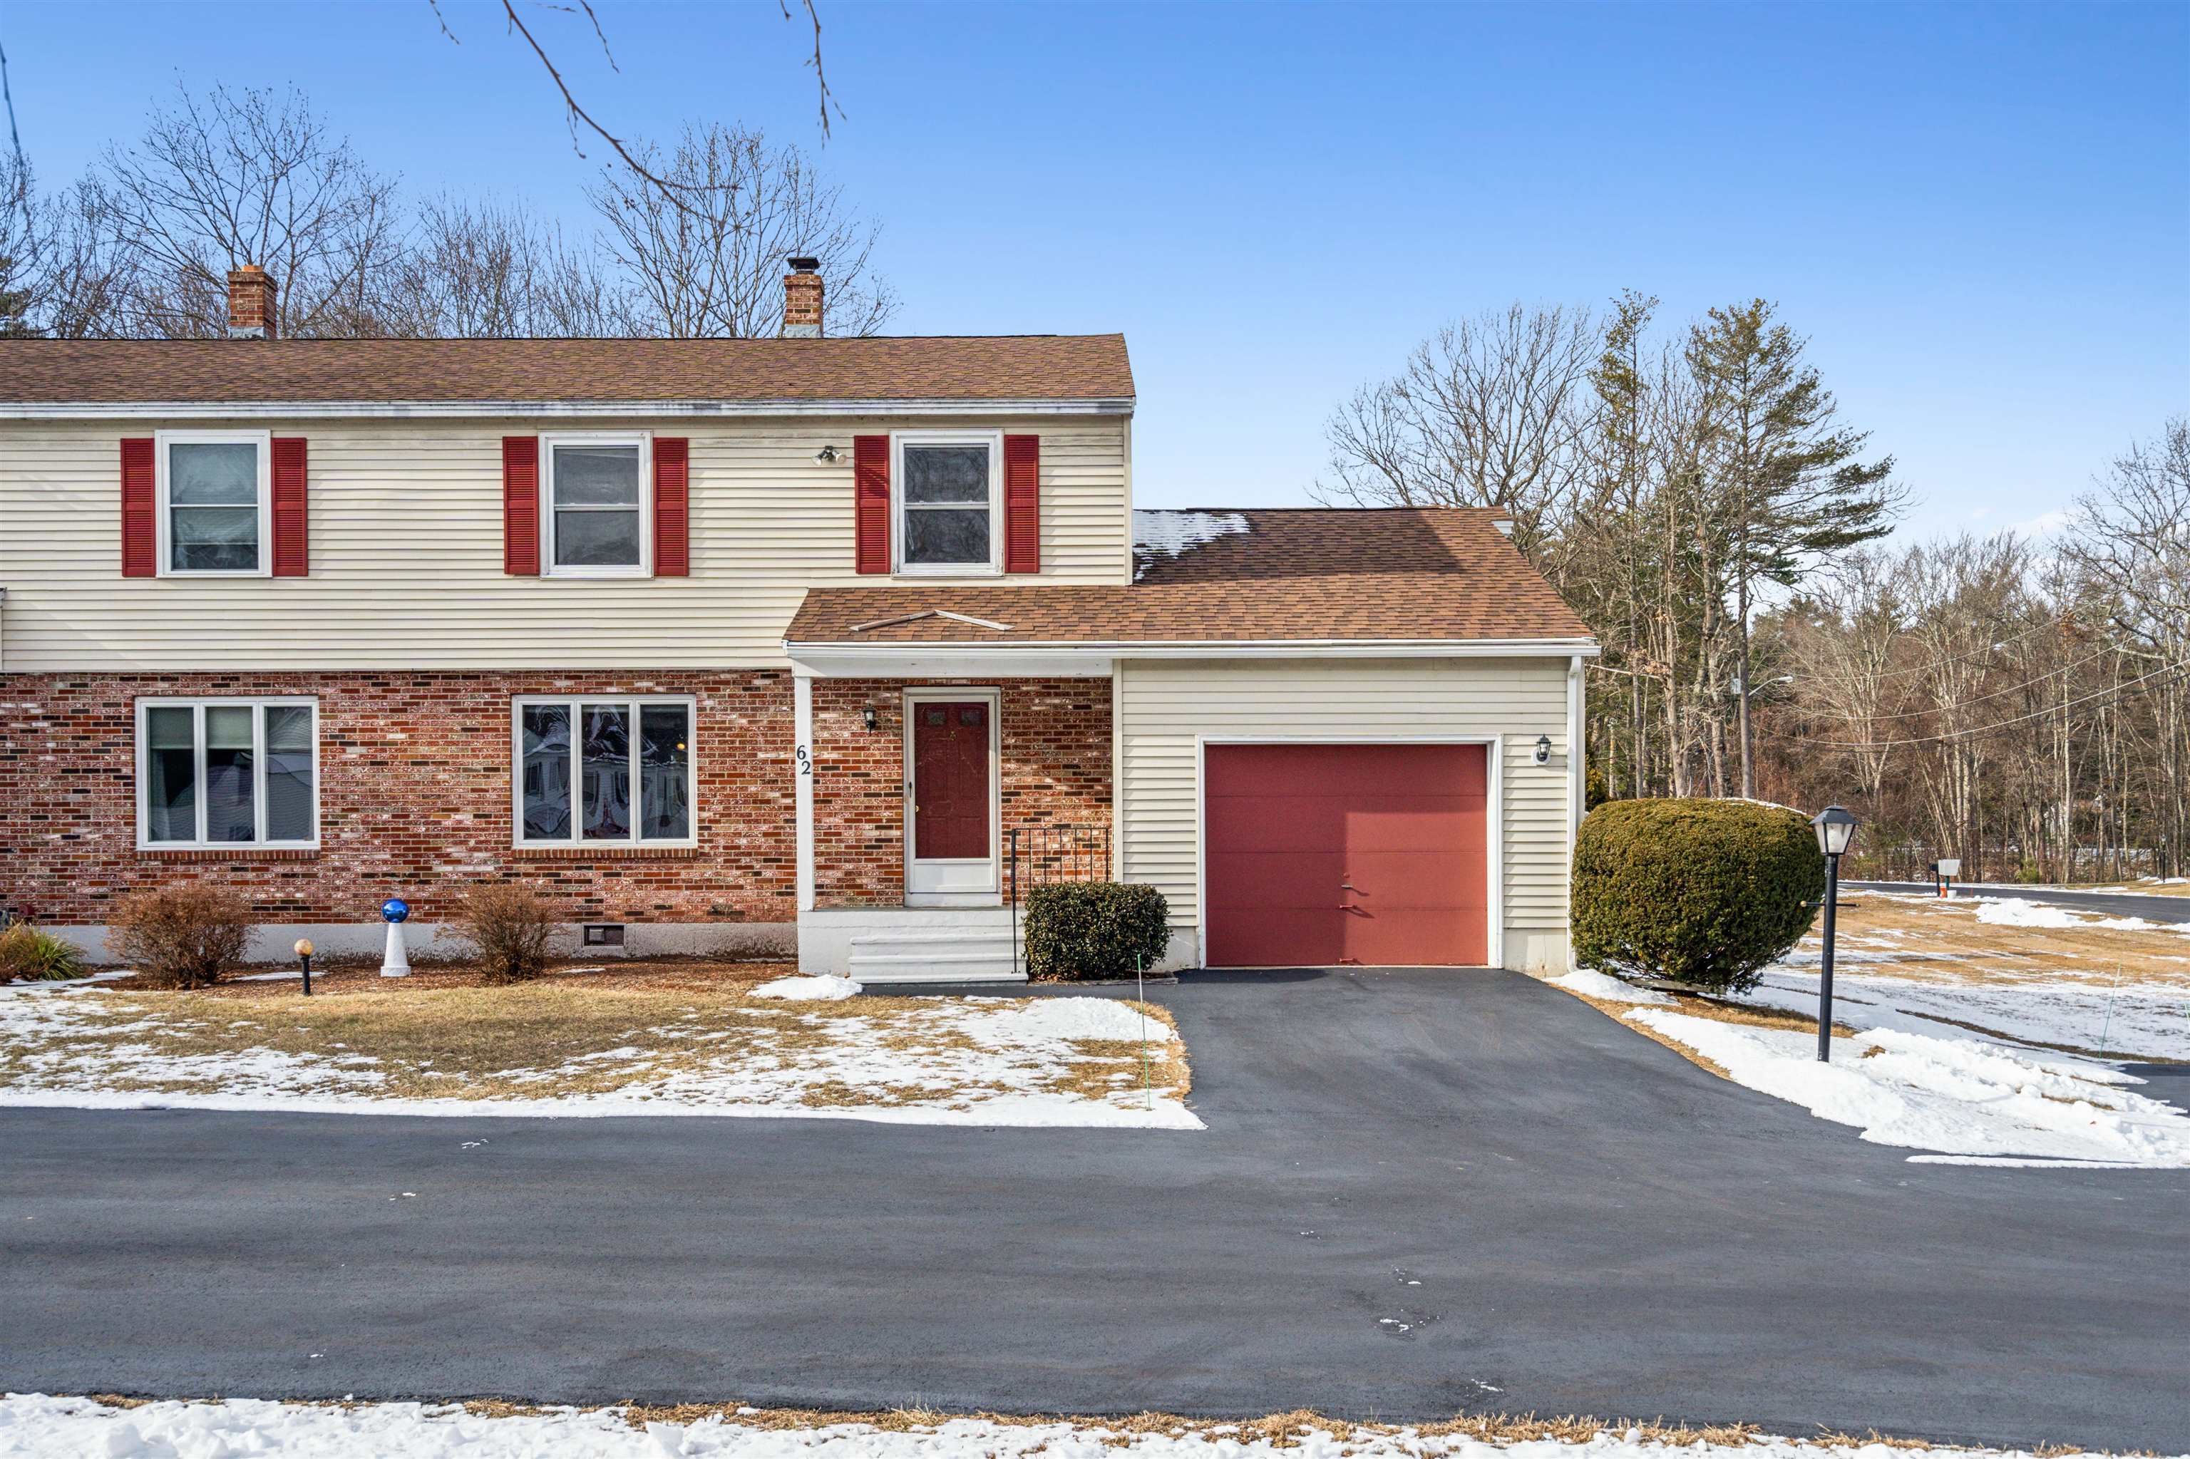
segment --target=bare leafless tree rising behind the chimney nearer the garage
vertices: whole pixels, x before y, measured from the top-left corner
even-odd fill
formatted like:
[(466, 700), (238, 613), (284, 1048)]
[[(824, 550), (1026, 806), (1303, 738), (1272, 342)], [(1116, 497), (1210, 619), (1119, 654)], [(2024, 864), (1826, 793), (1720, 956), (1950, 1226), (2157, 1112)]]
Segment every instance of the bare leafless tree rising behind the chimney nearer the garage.
[(751, 340), (784, 322), (784, 259), (808, 254), (828, 278), (828, 326), (872, 335), (898, 309), (872, 269), (880, 226), (821, 182), (797, 147), (736, 125), (690, 125), (677, 147), (639, 156), (683, 184), (672, 199), (604, 171), (587, 193), (637, 300), (637, 333)]

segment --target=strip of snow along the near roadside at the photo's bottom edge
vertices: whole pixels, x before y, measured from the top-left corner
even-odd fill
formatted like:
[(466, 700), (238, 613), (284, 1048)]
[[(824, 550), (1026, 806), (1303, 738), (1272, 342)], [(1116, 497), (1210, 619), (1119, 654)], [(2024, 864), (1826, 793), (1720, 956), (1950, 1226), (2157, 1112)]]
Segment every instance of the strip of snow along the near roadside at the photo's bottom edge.
[[(740, 1411), (753, 1413), (753, 1411)], [(1971, 1450), (1943, 1444), (1932, 1455), (2030, 1459), (2017, 1450)], [(1883, 1444), (1826, 1448), (1798, 1439), (1752, 1437), (1741, 1446), (1673, 1446), (1638, 1431), (1599, 1431), (1583, 1444), (1524, 1439), (1487, 1444), (1417, 1428), (1356, 1428), (1347, 1437), (1296, 1428), (1286, 1448), (1235, 1424), (1172, 1433), (1117, 1433), (1102, 1424), (996, 1424), (948, 1420), (907, 1431), (874, 1424), (760, 1428), (740, 1420), (633, 1426), (622, 1411), (548, 1409), (482, 1417), (456, 1404), (278, 1404), (252, 1398), (107, 1409), (88, 1398), (11, 1393), (0, 1400), (0, 1455), (22, 1459), (1894, 1459)]]

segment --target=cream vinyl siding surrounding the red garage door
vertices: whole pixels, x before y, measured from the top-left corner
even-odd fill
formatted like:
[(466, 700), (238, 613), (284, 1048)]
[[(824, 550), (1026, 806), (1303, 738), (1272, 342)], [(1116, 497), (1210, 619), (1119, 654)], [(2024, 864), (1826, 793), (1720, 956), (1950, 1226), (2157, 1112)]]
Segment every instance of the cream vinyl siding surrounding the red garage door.
[[(1566, 964), (1566, 657), (1123, 659), (1119, 826), (1126, 881), (1154, 883), (1196, 929), (1196, 740), (1502, 736), (1505, 964)], [(1535, 762), (1537, 736), (1551, 762)]]

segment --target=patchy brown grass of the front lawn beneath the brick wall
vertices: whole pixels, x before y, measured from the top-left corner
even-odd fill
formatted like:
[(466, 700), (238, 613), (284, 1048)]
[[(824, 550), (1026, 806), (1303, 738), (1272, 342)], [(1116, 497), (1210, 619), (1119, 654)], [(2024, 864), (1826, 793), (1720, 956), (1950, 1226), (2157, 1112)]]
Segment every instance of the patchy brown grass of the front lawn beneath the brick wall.
[[(753, 986), (793, 973), (786, 964), (620, 962), (596, 973), (574, 966), (602, 964), (569, 964), (539, 981), (499, 988), (480, 986), (460, 964), (405, 979), (346, 968), (315, 973), (311, 997), (296, 981), (182, 992), (123, 979), (59, 995), (66, 1025), (0, 1041), (0, 1089), (50, 1082), (53, 1060), (66, 1058), (79, 1084), (81, 1071), (99, 1069), (99, 1087), (112, 1091), (221, 1093), (221, 1060), (256, 1052), (326, 1060), (328, 1093), (368, 1100), (602, 1095), (723, 1071), (780, 1071), (808, 1106), (950, 1102), (1001, 1089), (889, 1087), (863, 1082), (856, 1071), (843, 1078), (817, 1071), (850, 1043), (944, 1065), (953, 1054), (979, 1052), (964, 1032), (961, 999), (753, 999)], [(1161, 1008), (1148, 1012), (1172, 1027)], [(1139, 1043), (1080, 1041), (1073, 1052), (1071, 1062), (1045, 1076), (1042, 1089), (1102, 1098), (1141, 1087)], [(145, 1056), (193, 1065), (134, 1071)], [(344, 1067), (381, 1078), (344, 1089)], [(1150, 1082), (1159, 1095), (1185, 1095), (1185, 1058), (1154, 1060)]]

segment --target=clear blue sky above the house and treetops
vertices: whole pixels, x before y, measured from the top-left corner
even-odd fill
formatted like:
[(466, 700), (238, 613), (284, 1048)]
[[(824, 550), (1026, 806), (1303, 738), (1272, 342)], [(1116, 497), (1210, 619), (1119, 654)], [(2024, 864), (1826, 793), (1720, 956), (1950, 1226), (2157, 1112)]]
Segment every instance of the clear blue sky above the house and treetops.
[[(528, 11), (615, 129), (819, 145), (773, 0)], [(578, 217), (491, 0), (4, 0), (53, 184), (177, 79), (293, 81), (418, 191)], [(1323, 421), (1441, 320), (1621, 287), (1765, 296), (1918, 493), (2059, 510), (2190, 410), (2190, 4), (854, 4), (821, 149), (900, 333), (1123, 331), (1152, 506), (1305, 499)], [(596, 149), (598, 158), (598, 149)]]

